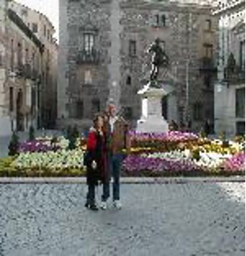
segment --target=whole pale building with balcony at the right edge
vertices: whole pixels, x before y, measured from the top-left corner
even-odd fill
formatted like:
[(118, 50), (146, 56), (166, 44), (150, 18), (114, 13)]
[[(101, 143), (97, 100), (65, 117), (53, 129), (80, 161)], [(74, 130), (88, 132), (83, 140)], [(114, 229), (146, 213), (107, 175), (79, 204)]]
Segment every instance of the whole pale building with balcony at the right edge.
[(215, 132), (245, 134), (245, 1), (215, 3), (218, 26), (218, 81)]

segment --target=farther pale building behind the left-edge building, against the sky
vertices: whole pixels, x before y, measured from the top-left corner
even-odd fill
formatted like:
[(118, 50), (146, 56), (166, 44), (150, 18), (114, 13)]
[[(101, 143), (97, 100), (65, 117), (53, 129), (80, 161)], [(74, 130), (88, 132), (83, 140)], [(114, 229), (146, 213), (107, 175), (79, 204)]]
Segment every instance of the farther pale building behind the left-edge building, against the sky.
[(14, 10), (43, 44), (42, 87), (39, 91), (40, 105), (38, 127), (53, 128), (57, 117), (57, 61), (58, 43), (53, 37), (55, 28), (48, 18), (38, 11), (11, 1)]

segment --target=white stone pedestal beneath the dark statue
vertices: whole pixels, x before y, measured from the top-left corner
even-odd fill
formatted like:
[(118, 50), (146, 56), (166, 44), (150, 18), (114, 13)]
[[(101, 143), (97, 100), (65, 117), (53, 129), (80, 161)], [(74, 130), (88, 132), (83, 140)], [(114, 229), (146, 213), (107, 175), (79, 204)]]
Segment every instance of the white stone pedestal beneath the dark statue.
[(141, 95), (142, 109), (137, 132), (168, 132), (169, 124), (161, 113), (161, 99), (166, 95), (165, 90), (146, 85), (138, 94)]

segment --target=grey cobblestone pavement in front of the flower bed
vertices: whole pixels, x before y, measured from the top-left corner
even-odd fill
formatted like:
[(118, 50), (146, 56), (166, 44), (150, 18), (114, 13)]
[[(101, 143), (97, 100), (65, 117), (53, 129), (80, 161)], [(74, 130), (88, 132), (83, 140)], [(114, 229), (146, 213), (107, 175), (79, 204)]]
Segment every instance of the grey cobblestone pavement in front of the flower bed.
[(85, 184), (0, 185), (1, 256), (245, 255), (245, 183), (122, 184), (122, 210)]

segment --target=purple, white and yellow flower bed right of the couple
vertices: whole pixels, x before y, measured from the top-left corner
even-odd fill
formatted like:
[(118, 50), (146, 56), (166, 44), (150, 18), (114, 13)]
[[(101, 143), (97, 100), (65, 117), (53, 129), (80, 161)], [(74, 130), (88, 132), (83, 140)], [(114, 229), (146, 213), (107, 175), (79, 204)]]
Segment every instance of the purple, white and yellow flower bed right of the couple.
[(123, 161), (129, 176), (245, 174), (245, 141), (225, 144), (188, 132), (131, 132), (132, 153)]

